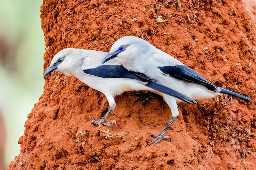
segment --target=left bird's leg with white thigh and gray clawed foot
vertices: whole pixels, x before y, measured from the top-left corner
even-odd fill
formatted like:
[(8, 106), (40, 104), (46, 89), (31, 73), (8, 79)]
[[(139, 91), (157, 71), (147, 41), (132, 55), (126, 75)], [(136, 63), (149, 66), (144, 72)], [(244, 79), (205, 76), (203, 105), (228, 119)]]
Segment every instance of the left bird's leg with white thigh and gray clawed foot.
[(110, 105), (110, 109), (108, 110), (108, 112), (100, 119), (100, 120), (92, 120), (91, 121), (91, 123), (92, 124), (95, 124), (95, 125), (100, 125), (100, 124), (102, 124), (102, 125), (105, 125), (105, 126), (108, 126), (108, 127), (111, 127), (112, 128), (112, 126), (110, 125), (110, 123), (107, 123), (106, 121), (105, 121), (105, 119), (108, 117), (108, 115), (109, 115), (109, 113), (116, 107), (116, 102), (115, 102), (115, 100), (114, 100), (114, 96), (113, 95), (105, 95), (106, 96), (106, 98), (108, 99), (108, 103), (109, 103), (109, 105)]

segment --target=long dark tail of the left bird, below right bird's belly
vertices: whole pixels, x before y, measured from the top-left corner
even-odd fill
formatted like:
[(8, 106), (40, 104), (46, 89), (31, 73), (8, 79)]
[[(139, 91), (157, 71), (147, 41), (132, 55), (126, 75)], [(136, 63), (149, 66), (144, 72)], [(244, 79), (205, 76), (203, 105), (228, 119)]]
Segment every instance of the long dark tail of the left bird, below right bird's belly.
[(169, 96), (172, 96), (174, 98), (177, 98), (177, 99), (180, 99), (182, 100), (183, 102), (186, 102), (186, 103), (196, 103), (195, 100), (193, 100), (192, 98), (176, 91), (176, 90), (173, 90), (171, 88), (168, 88), (162, 84), (159, 84), (158, 82), (152, 82), (152, 81), (149, 81), (148, 84), (145, 84), (145, 86), (147, 87), (150, 87), (154, 90), (157, 90), (159, 92), (162, 92), (164, 94), (167, 94)]

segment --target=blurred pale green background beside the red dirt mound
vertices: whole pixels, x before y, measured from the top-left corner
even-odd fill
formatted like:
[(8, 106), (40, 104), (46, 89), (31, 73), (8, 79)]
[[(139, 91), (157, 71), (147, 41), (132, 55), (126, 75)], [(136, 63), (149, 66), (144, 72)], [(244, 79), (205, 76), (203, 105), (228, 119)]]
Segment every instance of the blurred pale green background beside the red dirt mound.
[(2, 141), (5, 136), (4, 152), (0, 150), (4, 167), (0, 170), (19, 154), (18, 139), (23, 135), (27, 115), (43, 92), (42, 2), (0, 0), (0, 112), (5, 126), (0, 120), (0, 132), (5, 129), (5, 135), (0, 133)]

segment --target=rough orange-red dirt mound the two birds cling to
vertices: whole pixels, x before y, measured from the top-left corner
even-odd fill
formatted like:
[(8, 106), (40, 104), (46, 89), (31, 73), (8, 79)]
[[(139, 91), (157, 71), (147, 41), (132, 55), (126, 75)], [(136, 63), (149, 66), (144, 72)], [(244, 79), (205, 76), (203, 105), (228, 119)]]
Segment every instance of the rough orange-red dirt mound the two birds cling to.
[[(250, 5), (240, 0), (44, 0), (44, 70), (61, 49), (109, 51), (120, 37), (135, 35), (212, 83), (255, 101), (256, 5)], [(158, 23), (158, 16), (171, 18)], [(8, 169), (256, 169), (254, 103), (227, 95), (180, 103), (180, 115), (166, 133), (172, 141), (145, 147), (153, 140), (147, 133), (160, 133), (171, 112), (158, 98), (134, 104), (142, 94), (115, 98), (107, 118), (117, 124), (111, 131), (90, 124), (109, 108), (103, 94), (76, 78), (50, 74), (28, 114), (20, 154)]]

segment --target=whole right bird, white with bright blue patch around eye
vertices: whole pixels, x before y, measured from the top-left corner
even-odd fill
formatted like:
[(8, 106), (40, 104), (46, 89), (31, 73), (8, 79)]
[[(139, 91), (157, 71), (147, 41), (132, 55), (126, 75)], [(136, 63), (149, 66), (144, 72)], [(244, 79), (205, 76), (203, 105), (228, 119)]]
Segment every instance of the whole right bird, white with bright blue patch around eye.
[[(246, 96), (215, 86), (171, 55), (164, 53), (138, 37), (126, 36), (118, 39), (112, 45), (102, 64), (113, 58), (129, 71), (142, 73), (151, 81), (168, 86), (192, 99), (210, 99), (224, 93), (236, 96), (246, 102), (253, 102)], [(171, 96), (167, 96), (165, 100), (172, 101), (170, 102), (171, 106), (169, 104), (172, 111), (172, 119), (160, 135), (154, 135), (156, 139), (148, 143), (148, 145), (158, 143), (176, 117), (178, 117), (178, 109), (172, 109), (172, 107), (177, 107), (176, 100)]]

